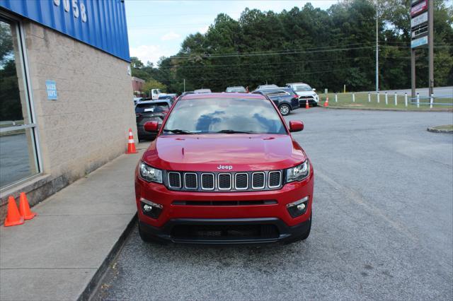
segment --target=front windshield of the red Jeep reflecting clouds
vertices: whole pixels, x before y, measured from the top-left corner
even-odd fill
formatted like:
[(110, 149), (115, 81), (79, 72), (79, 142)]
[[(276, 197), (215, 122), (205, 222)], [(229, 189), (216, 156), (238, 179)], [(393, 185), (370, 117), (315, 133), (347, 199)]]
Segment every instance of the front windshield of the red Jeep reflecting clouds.
[(163, 132), (286, 134), (273, 105), (256, 98), (200, 98), (176, 102)]

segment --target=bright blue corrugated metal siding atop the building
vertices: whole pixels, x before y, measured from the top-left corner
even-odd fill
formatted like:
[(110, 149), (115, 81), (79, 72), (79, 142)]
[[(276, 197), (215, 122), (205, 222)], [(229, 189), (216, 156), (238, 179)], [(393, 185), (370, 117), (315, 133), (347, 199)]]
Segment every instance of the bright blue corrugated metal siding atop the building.
[[(69, 1), (69, 12), (64, 11), (63, 1), (56, 6), (53, 0), (0, 0), (0, 8), (130, 60), (124, 3), (119, 0), (78, 0), (79, 17), (74, 18), (72, 0)], [(81, 3), (86, 7), (86, 23), (81, 20)]]

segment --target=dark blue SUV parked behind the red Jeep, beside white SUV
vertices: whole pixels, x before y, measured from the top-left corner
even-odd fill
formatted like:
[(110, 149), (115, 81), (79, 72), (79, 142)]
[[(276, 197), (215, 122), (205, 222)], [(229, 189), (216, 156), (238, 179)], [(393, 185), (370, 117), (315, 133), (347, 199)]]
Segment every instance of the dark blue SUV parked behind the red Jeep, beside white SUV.
[(266, 95), (272, 100), (283, 116), (287, 116), (292, 110), (299, 109), (299, 98), (290, 88), (268, 88), (253, 91), (255, 94)]

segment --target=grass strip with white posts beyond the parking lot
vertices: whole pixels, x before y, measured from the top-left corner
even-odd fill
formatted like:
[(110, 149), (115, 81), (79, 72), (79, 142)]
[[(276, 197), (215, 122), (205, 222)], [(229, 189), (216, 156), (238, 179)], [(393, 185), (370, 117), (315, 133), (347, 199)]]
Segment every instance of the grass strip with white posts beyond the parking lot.
[[(354, 96), (352, 96), (354, 95)], [(429, 99), (420, 99), (420, 105), (417, 107), (415, 103), (411, 103), (410, 96), (408, 95), (408, 105), (406, 107), (405, 95), (387, 94), (387, 101), (385, 93), (379, 93), (379, 98), (376, 93), (368, 95), (367, 92), (357, 93), (338, 93), (337, 101), (335, 101), (335, 93), (319, 94), (319, 98), (323, 102), (328, 97), (328, 104), (330, 107), (350, 107), (350, 108), (369, 108), (369, 109), (391, 109), (391, 110), (435, 110), (435, 111), (452, 111), (453, 98), (435, 98), (432, 109), (430, 109)], [(378, 102), (379, 100), (379, 102)], [(396, 104), (395, 104), (396, 103)]]

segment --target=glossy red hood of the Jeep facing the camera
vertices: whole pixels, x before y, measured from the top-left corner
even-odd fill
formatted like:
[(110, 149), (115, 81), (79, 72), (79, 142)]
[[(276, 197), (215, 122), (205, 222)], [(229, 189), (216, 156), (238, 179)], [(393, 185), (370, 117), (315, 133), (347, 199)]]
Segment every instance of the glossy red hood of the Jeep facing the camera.
[(143, 155), (145, 163), (163, 170), (280, 170), (306, 159), (289, 135), (196, 134), (159, 136)]

